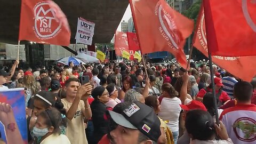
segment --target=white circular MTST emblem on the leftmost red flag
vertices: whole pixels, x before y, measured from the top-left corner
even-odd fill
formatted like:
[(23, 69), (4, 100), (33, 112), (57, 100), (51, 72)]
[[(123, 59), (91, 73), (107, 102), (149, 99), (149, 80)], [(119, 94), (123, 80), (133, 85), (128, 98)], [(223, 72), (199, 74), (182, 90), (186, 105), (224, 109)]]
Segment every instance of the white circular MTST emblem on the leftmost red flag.
[(55, 12), (49, 3), (39, 2), (34, 8), (34, 32), (39, 39), (50, 39), (61, 31), (61, 22), (55, 17)]

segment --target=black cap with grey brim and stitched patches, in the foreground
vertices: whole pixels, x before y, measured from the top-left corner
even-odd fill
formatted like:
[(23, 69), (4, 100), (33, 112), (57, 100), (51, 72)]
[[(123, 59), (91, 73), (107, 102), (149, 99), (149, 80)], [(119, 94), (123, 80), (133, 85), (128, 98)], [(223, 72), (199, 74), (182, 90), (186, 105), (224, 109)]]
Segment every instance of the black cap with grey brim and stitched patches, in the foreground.
[(153, 141), (161, 135), (160, 120), (149, 106), (136, 101), (124, 109), (121, 114), (109, 110), (111, 118), (123, 127), (139, 130)]

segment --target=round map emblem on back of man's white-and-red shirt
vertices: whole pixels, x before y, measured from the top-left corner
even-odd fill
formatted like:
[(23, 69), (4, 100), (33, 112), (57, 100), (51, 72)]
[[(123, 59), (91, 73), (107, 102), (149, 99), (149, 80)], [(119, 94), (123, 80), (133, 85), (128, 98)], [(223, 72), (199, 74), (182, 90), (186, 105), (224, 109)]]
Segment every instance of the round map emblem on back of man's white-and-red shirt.
[(233, 124), (233, 131), (236, 137), (245, 142), (256, 140), (255, 132), (256, 121), (250, 117), (238, 118)]

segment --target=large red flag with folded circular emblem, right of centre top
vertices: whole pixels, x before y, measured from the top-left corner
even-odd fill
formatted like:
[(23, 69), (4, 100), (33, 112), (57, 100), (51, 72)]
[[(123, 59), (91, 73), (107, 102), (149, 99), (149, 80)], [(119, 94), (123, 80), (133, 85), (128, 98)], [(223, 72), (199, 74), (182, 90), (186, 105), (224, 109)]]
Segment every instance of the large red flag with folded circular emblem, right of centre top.
[(171, 9), (164, 0), (129, 1), (141, 52), (169, 51), (186, 67), (183, 46), (194, 22)]

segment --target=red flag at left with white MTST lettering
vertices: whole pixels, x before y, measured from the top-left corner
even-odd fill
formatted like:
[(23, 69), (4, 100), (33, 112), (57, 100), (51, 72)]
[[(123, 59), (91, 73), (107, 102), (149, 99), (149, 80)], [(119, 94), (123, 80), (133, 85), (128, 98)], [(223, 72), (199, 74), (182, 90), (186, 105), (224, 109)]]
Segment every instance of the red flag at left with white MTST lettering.
[(68, 46), (70, 29), (66, 15), (54, 2), (22, 0), (19, 41)]

